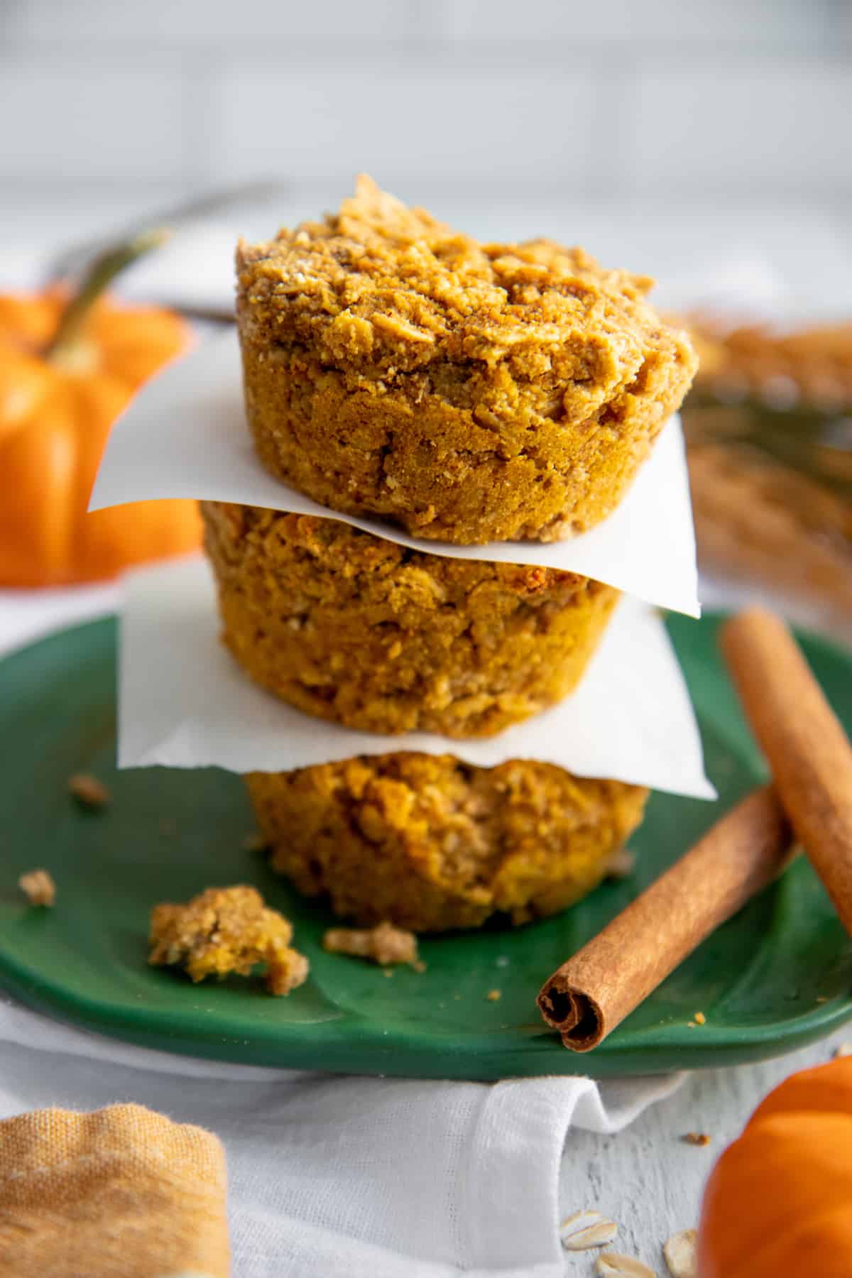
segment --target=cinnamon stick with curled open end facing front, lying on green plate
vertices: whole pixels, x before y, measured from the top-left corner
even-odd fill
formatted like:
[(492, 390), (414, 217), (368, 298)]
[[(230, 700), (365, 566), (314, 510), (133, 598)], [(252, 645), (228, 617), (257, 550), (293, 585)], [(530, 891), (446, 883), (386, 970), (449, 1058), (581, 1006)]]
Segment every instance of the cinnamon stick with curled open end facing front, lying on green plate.
[(589, 1052), (719, 924), (791, 860), (791, 829), (772, 786), (752, 791), (680, 861), (553, 973), (542, 1016)]

